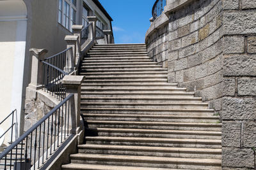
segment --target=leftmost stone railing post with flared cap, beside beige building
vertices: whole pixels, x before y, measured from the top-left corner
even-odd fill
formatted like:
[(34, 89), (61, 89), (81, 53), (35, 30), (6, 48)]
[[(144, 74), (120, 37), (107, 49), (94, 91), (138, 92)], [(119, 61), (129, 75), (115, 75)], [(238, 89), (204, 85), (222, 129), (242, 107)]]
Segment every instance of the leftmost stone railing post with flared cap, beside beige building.
[(31, 65), (31, 81), (29, 87), (33, 90), (42, 89), (43, 87), (43, 63), (44, 55), (48, 51), (45, 49), (30, 48), (29, 51), (32, 55)]

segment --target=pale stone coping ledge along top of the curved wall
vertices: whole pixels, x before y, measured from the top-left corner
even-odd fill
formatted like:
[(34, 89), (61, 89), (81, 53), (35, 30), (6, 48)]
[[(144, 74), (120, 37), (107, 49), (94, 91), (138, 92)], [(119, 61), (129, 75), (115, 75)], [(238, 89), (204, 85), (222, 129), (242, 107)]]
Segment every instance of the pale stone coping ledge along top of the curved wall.
[(157, 29), (160, 29), (161, 27), (163, 27), (163, 25), (166, 25), (168, 23), (168, 16), (172, 11), (182, 8), (183, 6), (185, 6), (188, 3), (191, 3), (192, 1), (195, 0), (175, 0), (173, 3), (164, 6), (163, 13), (159, 17), (157, 17), (156, 20), (154, 20), (154, 22), (152, 22), (148, 31), (146, 32), (145, 43), (147, 43), (148, 36), (150, 36), (155, 31), (157, 31)]

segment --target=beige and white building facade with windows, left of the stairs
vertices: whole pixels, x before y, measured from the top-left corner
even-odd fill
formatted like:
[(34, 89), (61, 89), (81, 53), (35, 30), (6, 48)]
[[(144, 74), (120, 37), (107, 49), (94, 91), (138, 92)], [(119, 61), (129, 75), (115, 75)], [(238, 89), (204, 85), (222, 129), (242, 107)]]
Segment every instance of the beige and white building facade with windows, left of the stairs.
[[(97, 0), (0, 1), (0, 71), (4, 73), (0, 76), (0, 121), (16, 109), (16, 137), (24, 129), (24, 100), (31, 75), (29, 49), (45, 48), (45, 57), (65, 50), (64, 39), (72, 34), (72, 25), (85, 27), (87, 17), (94, 15), (97, 27), (112, 31), (112, 18)], [(0, 128), (6, 131), (10, 124), (6, 120)], [(6, 141), (9, 137), (6, 134)]]

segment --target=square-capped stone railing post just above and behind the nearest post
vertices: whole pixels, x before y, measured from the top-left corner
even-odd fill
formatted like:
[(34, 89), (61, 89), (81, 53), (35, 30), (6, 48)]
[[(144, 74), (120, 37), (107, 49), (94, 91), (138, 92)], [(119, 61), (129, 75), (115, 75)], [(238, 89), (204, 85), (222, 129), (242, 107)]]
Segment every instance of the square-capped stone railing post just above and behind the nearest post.
[(77, 41), (78, 36), (65, 36), (65, 41), (67, 41), (67, 48), (72, 47), (70, 53), (68, 53), (68, 63), (66, 63), (66, 69), (68, 72), (74, 71), (75, 61), (76, 61), (76, 49), (77, 49)]

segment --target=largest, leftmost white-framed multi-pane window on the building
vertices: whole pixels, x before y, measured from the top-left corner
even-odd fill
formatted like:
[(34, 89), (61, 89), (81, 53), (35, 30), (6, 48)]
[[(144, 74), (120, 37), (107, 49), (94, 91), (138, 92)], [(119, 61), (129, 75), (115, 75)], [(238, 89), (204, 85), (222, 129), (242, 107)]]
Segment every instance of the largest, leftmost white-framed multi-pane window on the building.
[(76, 24), (76, 0), (59, 0), (58, 22), (72, 32)]

